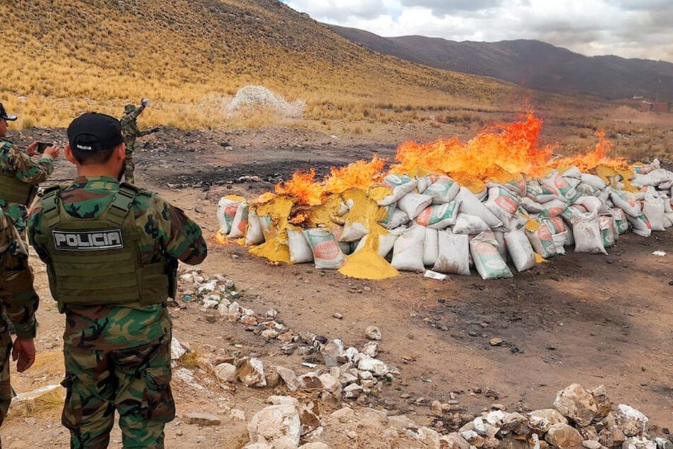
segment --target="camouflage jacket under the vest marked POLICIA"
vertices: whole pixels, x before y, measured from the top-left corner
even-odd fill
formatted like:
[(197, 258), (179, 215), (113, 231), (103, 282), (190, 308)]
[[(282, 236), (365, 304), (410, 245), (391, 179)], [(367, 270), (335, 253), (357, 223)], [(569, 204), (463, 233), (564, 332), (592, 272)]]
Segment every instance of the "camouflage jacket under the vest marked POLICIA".
[[(60, 198), (69, 215), (92, 218), (105, 210), (119, 190), (119, 183), (108, 176), (79, 176), (64, 186)], [(139, 193), (129, 213), (134, 214), (142, 263), (154, 263), (162, 256), (176, 258), (190, 265), (201, 263), (207, 246), (201, 229), (182, 210), (174, 208), (156, 193)], [(50, 263), (46, 245), (35, 243), (40, 234), (42, 203), (30, 210), (28, 238), (38, 256)], [(150, 343), (171, 330), (166, 305), (66, 307), (64, 343), (67, 346), (101, 351), (130, 348)]]

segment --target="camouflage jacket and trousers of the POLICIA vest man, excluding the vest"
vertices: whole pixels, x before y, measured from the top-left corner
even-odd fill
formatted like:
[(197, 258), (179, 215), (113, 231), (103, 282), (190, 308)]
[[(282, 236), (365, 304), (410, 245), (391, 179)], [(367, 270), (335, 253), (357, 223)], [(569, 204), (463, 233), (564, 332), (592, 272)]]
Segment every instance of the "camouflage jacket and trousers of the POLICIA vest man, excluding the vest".
[[(108, 176), (79, 176), (60, 191), (71, 217), (96, 217), (120, 184)], [(50, 266), (43, 235), (43, 199), (30, 212), (28, 237)], [(200, 263), (207, 254), (201, 229), (155, 193), (141, 191), (130, 212), (140, 232), (142, 263), (161, 257)], [(48, 228), (47, 228), (48, 229)], [(166, 302), (154, 305), (65, 305), (67, 388), (62, 423), (73, 448), (105, 448), (120, 414), (124, 447), (163, 448), (163, 428), (175, 416), (171, 394), (171, 319)]]

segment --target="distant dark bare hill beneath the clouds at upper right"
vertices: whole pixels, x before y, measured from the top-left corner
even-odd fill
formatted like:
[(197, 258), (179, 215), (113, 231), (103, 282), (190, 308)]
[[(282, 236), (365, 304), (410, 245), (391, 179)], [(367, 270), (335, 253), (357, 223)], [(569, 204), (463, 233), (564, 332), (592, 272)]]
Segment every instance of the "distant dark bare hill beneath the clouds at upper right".
[(616, 56), (586, 57), (537, 40), (455, 42), (441, 38), (381, 38), (354, 28), (330, 30), (386, 55), (430, 67), (491, 76), (558, 93), (592, 94), (606, 99), (648, 96), (673, 101), (673, 64)]

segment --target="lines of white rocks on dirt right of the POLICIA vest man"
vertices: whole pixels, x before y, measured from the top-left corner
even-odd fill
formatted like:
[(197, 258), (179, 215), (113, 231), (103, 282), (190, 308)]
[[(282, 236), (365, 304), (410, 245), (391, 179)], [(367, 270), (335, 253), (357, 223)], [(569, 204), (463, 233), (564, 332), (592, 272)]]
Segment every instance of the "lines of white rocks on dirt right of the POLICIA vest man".
[[(260, 316), (254, 310), (242, 307), (234, 300), (240, 297), (236, 285), (222, 275), (204, 278), (198, 268), (191, 268), (182, 273), (180, 279), (192, 283), (194, 293), (185, 297), (197, 300), (203, 312), (217, 311), (222, 319), (247, 326), (247, 330), (265, 341), (280, 342), (285, 354), (297, 351), (309, 360), (324, 364), (323, 369), (319, 369), (318, 363), (304, 363), (313, 371), (297, 374), (282, 367), (269, 370), (258, 358), (231, 358), (226, 363), (214, 365), (214, 373), (222, 382), (238, 380), (247, 387), (275, 387), (283, 382), (290, 391), (319, 390), (337, 403), (342, 399), (357, 400), (360, 397), (360, 402), (364, 402), (366, 397), (379, 394), (382, 385), (390, 383), (393, 374), (398, 373), (396, 368), (376, 358), (378, 341), (381, 340), (381, 331), (376, 326), (364, 330), (364, 336), (370, 341), (358, 350), (345, 346), (340, 339), (330, 341), (309, 331), (295, 333), (277, 321), (278, 312), (275, 309)], [(172, 346), (175, 360), (187, 353), (175, 339)]]

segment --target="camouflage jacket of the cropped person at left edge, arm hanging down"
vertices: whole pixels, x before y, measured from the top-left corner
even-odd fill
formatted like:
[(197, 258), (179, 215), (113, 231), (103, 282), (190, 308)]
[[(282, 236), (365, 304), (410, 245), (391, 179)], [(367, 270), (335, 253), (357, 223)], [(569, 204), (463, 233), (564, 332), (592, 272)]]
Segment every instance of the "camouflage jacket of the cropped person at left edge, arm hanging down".
[(5, 315), (21, 339), (35, 338), (35, 310), (40, 300), (33, 289), (33, 272), (28, 267), (28, 248), (11, 220), (0, 210), (0, 331), (7, 329)]

